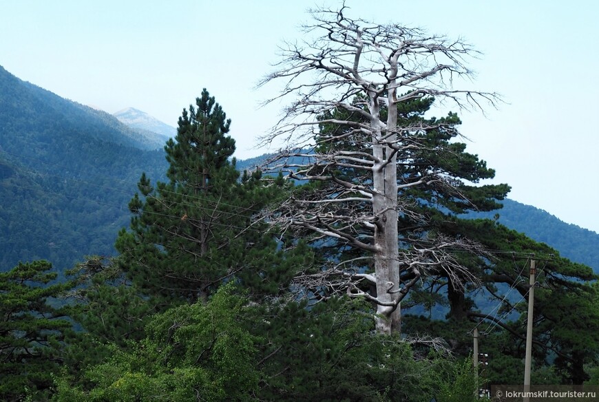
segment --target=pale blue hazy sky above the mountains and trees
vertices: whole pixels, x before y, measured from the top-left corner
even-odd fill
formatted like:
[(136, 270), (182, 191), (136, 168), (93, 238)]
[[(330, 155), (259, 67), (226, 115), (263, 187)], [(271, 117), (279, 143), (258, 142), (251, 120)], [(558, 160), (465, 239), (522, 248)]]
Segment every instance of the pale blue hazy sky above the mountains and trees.
[[(0, 65), (78, 103), (136, 107), (173, 126), (207, 87), (233, 120), (238, 158), (248, 158), (264, 153), (252, 149), (255, 136), (281, 106), (259, 109), (273, 93), (255, 84), (283, 39), (301, 39), (306, 8), (322, 4), (339, 2), (0, 0)], [(506, 103), (486, 116), (461, 113), (468, 149), (512, 186), (510, 198), (599, 232), (596, 1), (347, 5), (349, 17), (461, 36), (481, 50), (467, 85)]]

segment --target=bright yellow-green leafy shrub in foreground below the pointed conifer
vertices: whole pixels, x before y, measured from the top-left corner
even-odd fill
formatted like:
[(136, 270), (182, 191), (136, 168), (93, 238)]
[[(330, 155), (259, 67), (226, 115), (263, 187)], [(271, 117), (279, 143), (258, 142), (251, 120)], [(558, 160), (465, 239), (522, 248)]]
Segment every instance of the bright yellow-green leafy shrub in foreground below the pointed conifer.
[(258, 389), (256, 338), (244, 329), (245, 299), (223, 286), (207, 304), (183, 305), (156, 315), (147, 337), (92, 366), (92, 388), (57, 381), (53, 401), (249, 401)]

